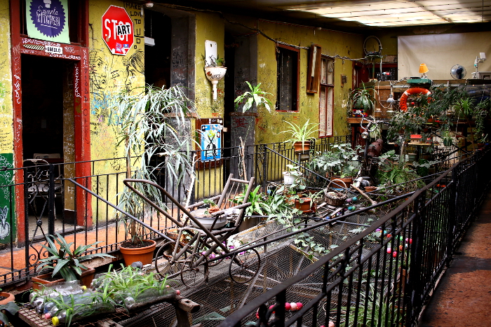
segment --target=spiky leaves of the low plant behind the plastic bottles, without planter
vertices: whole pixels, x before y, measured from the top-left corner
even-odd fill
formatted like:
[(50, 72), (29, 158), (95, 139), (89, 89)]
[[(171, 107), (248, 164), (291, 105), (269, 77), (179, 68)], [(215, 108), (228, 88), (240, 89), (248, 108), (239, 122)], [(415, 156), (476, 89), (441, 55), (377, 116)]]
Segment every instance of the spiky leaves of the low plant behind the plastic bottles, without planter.
[[(52, 268), (53, 274), (55, 276), (60, 272), (61, 276), (65, 281), (73, 281), (78, 279), (82, 274), (82, 270), (88, 269), (85, 265), (81, 263), (83, 260), (88, 260), (91, 258), (114, 258), (107, 253), (86, 253), (88, 249), (95, 246), (100, 242), (95, 242), (88, 245), (79, 245), (76, 249), (72, 251), (73, 242), (68, 243), (62, 235), (56, 233), (56, 237), (53, 235), (48, 235), (46, 237), (46, 242), (48, 246), (43, 244), (43, 248), (51, 254), (48, 258), (43, 258), (39, 260), (42, 263), (39, 266), (41, 270), (43, 267)], [(58, 246), (55, 244), (58, 244)], [(53, 265), (55, 261), (55, 265)]]

